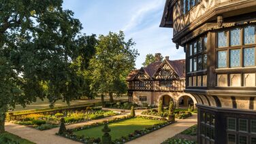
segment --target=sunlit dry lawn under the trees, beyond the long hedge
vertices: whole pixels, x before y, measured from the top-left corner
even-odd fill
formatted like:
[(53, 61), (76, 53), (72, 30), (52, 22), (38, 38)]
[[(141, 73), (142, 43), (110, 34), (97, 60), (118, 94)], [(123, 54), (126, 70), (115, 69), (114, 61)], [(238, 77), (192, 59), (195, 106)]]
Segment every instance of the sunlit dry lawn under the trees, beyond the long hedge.
[[(128, 97), (121, 97), (121, 98), (115, 98), (115, 100), (128, 100)], [(100, 102), (101, 98), (95, 98), (93, 100), (89, 99), (81, 99), (81, 100), (74, 100), (70, 102), (70, 105), (81, 105), (81, 104), (88, 104), (88, 103), (96, 103)], [(108, 98), (105, 98), (105, 101), (108, 101)], [(67, 106), (67, 103), (59, 100), (55, 103), (54, 107), (63, 107)], [(37, 98), (37, 101), (35, 103), (31, 103), (30, 105), (27, 105), (27, 107), (23, 108), (21, 105), (16, 105), (14, 111), (24, 111), (24, 110), (30, 110), (30, 109), (45, 109), (49, 108), (49, 102), (48, 99), (44, 99), (42, 101), (41, 99)]]

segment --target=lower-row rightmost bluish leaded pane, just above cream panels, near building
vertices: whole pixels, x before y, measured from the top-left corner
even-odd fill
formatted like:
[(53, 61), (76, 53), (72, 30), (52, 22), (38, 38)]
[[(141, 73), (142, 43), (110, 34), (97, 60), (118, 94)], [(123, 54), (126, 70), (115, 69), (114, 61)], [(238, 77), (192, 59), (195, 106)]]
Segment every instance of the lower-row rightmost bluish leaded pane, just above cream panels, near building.
[(244, 67), (255, 66), (255, 48), (244, 48)]

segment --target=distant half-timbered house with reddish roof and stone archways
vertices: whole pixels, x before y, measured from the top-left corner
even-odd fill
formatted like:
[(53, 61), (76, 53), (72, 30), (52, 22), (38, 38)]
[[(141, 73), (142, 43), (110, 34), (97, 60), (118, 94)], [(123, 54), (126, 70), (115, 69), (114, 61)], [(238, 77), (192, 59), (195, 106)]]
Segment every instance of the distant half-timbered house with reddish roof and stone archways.
[(129, 101), (138, 105), (144, 103), (156, 106), (159, 101), (169, 105), (173, 101), (177, 107), (187, 107), (197, 103), (185, 90), (185, 60), (160, 61), (147, 67), (131, 71), (127, 77)]

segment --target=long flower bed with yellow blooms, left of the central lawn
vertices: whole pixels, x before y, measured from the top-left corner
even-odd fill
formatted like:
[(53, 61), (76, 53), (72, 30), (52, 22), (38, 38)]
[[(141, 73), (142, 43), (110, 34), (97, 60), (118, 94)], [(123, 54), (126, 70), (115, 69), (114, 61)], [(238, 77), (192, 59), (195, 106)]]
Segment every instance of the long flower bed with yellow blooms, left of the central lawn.
[(82, 110), (69, 111), (67, 113), (56, 113), (54, 115), (30, 114), (23, 117), (21, 120), (14, 121), (15, 124), (31, 126), (38, 130), (48, 130), (59, 126), (61, 118), (64, 117), (65, 124), (74, 124), (78, 122), (85, 122), (89, 120), (96, 120), (109, 116), (117, 115), (113, 111), (101, 110)]

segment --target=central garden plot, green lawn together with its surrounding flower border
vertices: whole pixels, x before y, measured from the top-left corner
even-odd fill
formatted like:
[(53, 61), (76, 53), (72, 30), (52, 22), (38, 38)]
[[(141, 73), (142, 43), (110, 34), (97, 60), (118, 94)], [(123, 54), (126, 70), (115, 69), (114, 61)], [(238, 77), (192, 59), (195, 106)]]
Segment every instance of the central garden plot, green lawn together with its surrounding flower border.
[(101, 137), (103, 136), (102, 129), (105, 124), (108, 124), (111, 130), (110, 136), (112, 137), (112, 143), (126, 143), (172, 123), (165, 118), (125, 116), (123, 118), (114, 118), (100, 123), (69, 129), (61, 135), (82, 143), (101, 143)]

